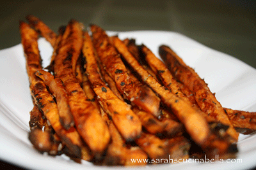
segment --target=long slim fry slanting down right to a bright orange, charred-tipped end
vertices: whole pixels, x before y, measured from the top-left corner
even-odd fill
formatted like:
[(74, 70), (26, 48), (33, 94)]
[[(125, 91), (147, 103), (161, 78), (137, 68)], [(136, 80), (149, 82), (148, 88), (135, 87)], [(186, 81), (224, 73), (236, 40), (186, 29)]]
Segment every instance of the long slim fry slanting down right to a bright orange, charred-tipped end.
[[(172, 94), (170, 90), (166, 90), (152, 76), (148, 76), (147, 71), (143, 69), (138, 60), (134, 59), (119, 38), (113, 38), (113, 42), (118, 51), (122, 54), (122, 57), (124, 57), (132, 69), (141, 76), (141, 80), (144, 80), (145, 83), (147, 83), (147, 85), (161, 97), (161, 100), (168, 108), (172, 108), (173, 113), (175, 113), (180, 122), (184, 124), (186, 131), (193, 141), (200, 145), (204, 150), (211, 151), (207, 153), (209, 157), (216, 154), (216, 148), (218, 148), (218, 152), (223, 157), (226, 157), (228, 154), (234, 155), (234, 153), (237, 152), (237, 150), (234, 152), (230, 152), (229, 150), (229, 147), (236, 148), (236, 145), (232, 145), (233, 141), (231, 141), (230, 136), (223, 134), (217, 135), (215, 131), (209, 128), (208, 119), (205, 118), (205, 114), (202, 111), (193, 108), (190, 103), (177, 97), (175, 94)], [(148, 48), (142, 48), (142, 51), (146, 53), (146, 55), (154, 55)], [(218, 129), (218, 132), (220, 132), (219, 130), (220, 129)], [(225, 138), (223, 138), (223, 136), (225, 136)], [(225, 147), (214, 145), (214, 143), (211, 142), (212, 140), (216, 141), (215, 143), (225, 143)]]

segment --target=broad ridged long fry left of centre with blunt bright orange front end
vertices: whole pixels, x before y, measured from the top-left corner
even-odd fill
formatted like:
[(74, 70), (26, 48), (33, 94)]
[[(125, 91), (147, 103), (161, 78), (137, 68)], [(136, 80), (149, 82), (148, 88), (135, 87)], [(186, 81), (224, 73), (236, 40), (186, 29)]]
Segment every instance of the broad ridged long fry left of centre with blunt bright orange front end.
[(82, 31), (77, 24), (76, 20), (71, 20), (65, 29), (55, 58), (54, 72), (63, 81), (68, 92), (68, 103), (77, 131), (95, 153), (95, 157), (100, 157), (108, 146), (110, 136), (108, 126), (92, 102), (86, 100), (87, 97), (72, 69), (72, 57), (77, 58), (83, 46), (83, 36), (80, 36)]

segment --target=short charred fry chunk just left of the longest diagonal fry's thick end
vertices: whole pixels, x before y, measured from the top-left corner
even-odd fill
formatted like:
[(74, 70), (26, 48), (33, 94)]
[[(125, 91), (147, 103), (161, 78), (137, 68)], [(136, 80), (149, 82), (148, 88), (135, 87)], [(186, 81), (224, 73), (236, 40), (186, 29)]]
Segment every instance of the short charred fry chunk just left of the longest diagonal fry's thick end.
[(133, 107), (132, 111), (140, 117), (143, 127), (151, 134), (174, 136), (178, 132), (183, 131), (183, 125), (170, 118), (159, 121), (154, 115), (139, 110), (137, 107)]

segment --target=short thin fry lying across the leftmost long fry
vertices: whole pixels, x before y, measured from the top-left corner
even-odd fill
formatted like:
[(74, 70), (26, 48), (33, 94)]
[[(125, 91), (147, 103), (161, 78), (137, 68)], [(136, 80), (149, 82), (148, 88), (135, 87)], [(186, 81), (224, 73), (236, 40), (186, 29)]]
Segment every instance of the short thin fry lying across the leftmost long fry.
[(61, 125), (67, 130), (70, 129), (70, 127), (73, 127), (74, 118), (70, 106), (68, 105), (68, 94), (60, 78), (54, 78), (51, 73), (42, 69), (36, 71), (35, 74), (44, 81), (45, 85), (49, 87), (49, 90), (56, 98)]

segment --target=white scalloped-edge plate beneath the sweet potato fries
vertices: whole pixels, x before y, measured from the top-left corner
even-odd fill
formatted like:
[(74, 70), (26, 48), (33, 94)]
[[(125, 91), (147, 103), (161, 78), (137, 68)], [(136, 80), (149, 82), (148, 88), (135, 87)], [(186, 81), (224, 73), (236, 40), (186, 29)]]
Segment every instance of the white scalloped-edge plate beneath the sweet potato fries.
[[(160, 45), (170, 46), (186, 64), (195, 68), (201, 78), (205, 78), (223, 107), (256, 111), (256, 69), (253, 67), (175, 32), (119, 32), (118, 36), (121, 39), (135, 38), (136, 43), (147, 45), (157, 56)], [(47, 66), (52, 53), (51, 45), (43, 38), (38, 42), (43, 65)], [(30, 169), (109, 169), (86, 161), (77, 164), (65, 156), (51, 157), (36, 152), (28, 140), (29, 111), (33, 104), (21, 45), (0, 51), (0, 68), (0, 159)], [(234, 163), (186, 162), (138, 169), (248, 169), (256, 166), (255, 140), (253, 135), (239, 136), (239, 154), (237, 160), (232, 160)]]

